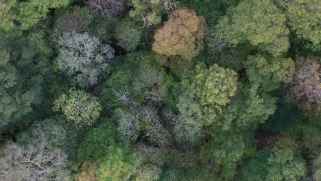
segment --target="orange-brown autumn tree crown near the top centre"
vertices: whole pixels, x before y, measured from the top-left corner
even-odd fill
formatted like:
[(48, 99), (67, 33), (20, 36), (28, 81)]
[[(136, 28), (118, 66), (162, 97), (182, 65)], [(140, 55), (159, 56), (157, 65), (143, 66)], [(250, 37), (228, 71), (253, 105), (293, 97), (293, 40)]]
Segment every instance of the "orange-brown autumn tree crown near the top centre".
[(204, 28), (204, 18), (196, 16), (193, 10), (176, 10), (169, 15), (164, 26), (157, 30), (153, 51), (165, 56), (179, 55), (191, 59), (203, 47)]

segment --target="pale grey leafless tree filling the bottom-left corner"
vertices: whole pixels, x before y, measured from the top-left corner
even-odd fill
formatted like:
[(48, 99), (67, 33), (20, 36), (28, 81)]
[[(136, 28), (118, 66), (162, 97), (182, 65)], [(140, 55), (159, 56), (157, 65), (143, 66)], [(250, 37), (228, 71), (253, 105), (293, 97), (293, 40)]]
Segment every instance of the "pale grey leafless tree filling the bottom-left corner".
[(26, 147), (9, 142), (0, 158), (0, 178), (14, 180), (68, 180), (67, 154), (49, 147), (45, 140)]

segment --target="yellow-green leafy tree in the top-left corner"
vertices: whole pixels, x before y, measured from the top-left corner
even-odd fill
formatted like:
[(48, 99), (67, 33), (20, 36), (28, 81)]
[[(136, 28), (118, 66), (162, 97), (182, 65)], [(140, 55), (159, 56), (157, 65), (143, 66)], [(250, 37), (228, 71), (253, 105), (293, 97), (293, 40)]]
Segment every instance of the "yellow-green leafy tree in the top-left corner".
[(70, 0), (62, 1), (8, 1), (0, 2), (0, 27), (6, 32), (28, 29), (45, 18), (51, 8), (59, 8), (69, 5)]

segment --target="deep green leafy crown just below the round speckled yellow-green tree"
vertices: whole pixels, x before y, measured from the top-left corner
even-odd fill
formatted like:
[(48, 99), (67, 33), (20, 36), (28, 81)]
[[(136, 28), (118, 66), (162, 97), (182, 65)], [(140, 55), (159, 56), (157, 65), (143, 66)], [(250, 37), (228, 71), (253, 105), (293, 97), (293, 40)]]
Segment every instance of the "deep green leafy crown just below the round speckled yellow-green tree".
[(110, 145), (117, 144), (117, 127), (108, 119), (102, 119), (98, 128), (88, 132), (78, 149), (78, 161), (95, 161), (106, 155)]

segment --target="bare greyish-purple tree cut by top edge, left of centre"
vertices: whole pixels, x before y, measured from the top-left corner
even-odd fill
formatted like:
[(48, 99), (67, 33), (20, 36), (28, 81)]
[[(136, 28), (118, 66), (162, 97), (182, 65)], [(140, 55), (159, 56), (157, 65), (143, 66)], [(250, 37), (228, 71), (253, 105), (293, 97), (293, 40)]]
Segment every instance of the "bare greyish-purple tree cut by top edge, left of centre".
[(98, 12), (102, 19), (112, 19), (125, 10), (124, 0), (86, 0), (85, 2), (94, 12)]

